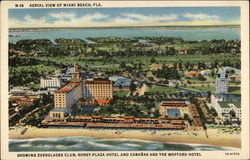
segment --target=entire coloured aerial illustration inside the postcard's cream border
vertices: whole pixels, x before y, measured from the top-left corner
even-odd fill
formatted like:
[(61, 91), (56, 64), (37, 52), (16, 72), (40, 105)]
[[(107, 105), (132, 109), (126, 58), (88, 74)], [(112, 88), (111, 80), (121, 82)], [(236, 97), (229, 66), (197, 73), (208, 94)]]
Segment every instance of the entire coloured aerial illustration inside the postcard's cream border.
[(240, 150), (240, 7), (8, 14), (10, 152)]

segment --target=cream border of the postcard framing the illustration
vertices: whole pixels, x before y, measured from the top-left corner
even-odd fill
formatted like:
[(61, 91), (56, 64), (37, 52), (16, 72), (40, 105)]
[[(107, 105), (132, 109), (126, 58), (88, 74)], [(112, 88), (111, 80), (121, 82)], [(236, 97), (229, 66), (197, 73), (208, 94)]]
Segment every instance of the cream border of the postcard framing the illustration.
[[(76, 1), (74, 1), (75, 3)], [(83, 1), (79, 1), (79, 3)], [(84, 1), (87, 3), (87, 1)], [(1, 156), (2, 159), (17, 159), (15, 152), (8, 152), (8, 9), (15, 8), (15, 1), (1, 2)], [(29, 3), (58, 3), (58, 1), (19, 1), (29, 8)], [(69, 1), (62, 1), (69, 3)], [(95, 3), (95, 1), (89, 1)], [(242, 42), (242, 148), (240, 156), (225, 156), (225, 151), (197, 151), (202, 157), (140, 157), (141, 159), (249, 159), (249, 6), (248, 1), (98, 1), (106, 7), (193, 7), (193, 6), (240, 6), (241, 7), (241, 42)], [(70, 7), (67, 7), (70, 8)], [(74, 8), (74, 7), (72, 7)], [(154, 153), (156, 151), (146, 151)], [(193, 151), (192, 151), (193, 152)], [(226, 151), (231, 153), (233, 151)], [(41, 153), (41, 152), (26, 152)], [(48, 153), (48, 152), (46, 152)], [(57, 153), (57, 152), (53, 152)], [(62, 152), (60, 152), (62, 153)], [(70, 152), (67, 152), (70, 153)], [(78, 153), (78, 152), (74, 152)], [(171, 153), (179, 153), (173, 151)], [(183, 152), (181, 152), (183, 153)], [(188, 152), (186, 152), (188, 153)], [(138, 159), (139, 157), (119, 157), (119, 159)], [(22, 158), (18, 158), (22, 159)], [(34, 158), (25, 158), (34, 159)], [(37, 158), (69, 159), (69, 158)], [(78, 159), (118, 159), (118, 157), (78, 157)]]

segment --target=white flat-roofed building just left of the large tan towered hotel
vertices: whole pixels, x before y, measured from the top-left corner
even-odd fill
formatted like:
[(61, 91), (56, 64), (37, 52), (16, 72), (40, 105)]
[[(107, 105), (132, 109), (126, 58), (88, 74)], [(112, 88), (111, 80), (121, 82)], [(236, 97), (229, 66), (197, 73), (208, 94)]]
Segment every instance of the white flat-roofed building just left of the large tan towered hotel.
[(40, 79), (41, 88), (61, 88), (62, 80), (58, 76), (48, 76)]

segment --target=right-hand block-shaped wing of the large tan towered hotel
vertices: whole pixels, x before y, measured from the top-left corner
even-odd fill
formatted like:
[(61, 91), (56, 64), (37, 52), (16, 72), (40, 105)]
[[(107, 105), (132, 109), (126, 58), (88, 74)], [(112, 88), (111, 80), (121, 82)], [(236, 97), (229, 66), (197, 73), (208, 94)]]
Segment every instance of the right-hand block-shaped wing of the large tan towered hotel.
[(83, 81), (83, 97), (111, 100), (113, 98), (112, 82), (104, 79)]

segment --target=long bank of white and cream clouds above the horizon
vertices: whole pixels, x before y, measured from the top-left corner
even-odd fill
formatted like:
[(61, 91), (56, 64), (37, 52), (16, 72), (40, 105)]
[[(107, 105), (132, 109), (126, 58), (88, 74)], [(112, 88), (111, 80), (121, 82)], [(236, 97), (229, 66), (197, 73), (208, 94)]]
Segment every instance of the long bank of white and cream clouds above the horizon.
[[(183, 19), (183, 17), (189, 20), (187, 21), (186, 19)], [(239, 24), (239, 21), (223, 21), (217, 15), (207, 15), (203, 13), (186, 13), (182, 15), (144, 15), (137, 13), (123, 13), (120, 15), (110, 15), (99, 12), (85, 15), (79, 15), (74, 12), (51, 12), (40, 18), (25, 15), (22, 19), (13, 17), (10, 17), (9, 19), (10, 27), (104, 27), (215, 24)]]

